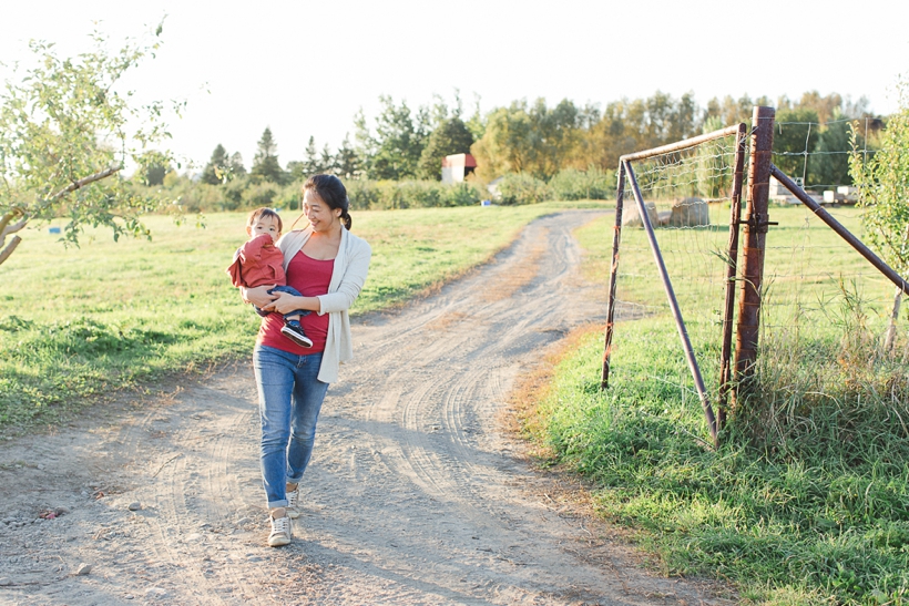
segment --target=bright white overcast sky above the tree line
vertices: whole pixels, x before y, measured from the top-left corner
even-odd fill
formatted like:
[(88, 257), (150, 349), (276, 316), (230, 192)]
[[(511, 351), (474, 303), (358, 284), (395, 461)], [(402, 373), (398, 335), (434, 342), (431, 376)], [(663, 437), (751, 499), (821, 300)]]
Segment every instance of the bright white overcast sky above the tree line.
[[(714, 97), (817, 90), (896, 111), (909, 74), (905, 0), (72, 0), (4, 2), (0, 61), (27, 61), (29, 40), (58, 52), (112, 43), (164, 20), (163, 45), (127, 84), (142, 100), (186, 101), (171, 150), (203, 165), (217, 144), (252, 162), (266, 126), (282, 163), (315, 137), (335, 148), (379, 95), (464, 113), (538, 97), (604, 105), (657, 90)], [(115, 44), (114, 44), (115, 45)], [(0, 69), (0, 76), (9, 70)]]

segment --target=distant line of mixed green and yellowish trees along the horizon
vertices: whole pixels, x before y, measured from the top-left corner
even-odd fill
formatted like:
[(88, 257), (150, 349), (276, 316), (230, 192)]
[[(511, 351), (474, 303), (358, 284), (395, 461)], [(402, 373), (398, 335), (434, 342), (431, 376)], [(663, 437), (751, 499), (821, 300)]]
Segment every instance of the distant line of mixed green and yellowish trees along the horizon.
[[(348, 181), (440, 181), (442, 158), (458, 153), (473, 154), (480, 182), (520, 175), (510, 177), (510, 187), (530, 192), (532, 195), (521, 195), (534, 199), (554, 195), (540, 183), (552, 183), (560, 192), (607, 196), (602, 184), (609, 181), (622, 154), (748, 122), (754, 105), (777, 109), (774, 162), (784, 172), (804, 176), (807, 185), (848, 184), (850, 121), (858, 120), (856, 141), (865, 146), (869, 132), (874, 134), (882, 125), (879, 117), (869, 113), (865, 97), (850, 102), (837, 93), (825, 96), (816, 91), (803, 94), (798, 101), (784, 96), (773, 103), (766, 96), (744, 95), (715, 97), (705, 106), (699, 106), (692, 93), (676, 99), (660, 91), (647, 99), (622, 99), (604, 106), (578, 105), (570, 100), (550, 106), (542, 99), (532, 103), (521, 100), (484, 114), (479, 111), (478, 101), (470, 117), (464, 116), (457, 92), (451, 105), (438, 95), (431, 104), (416, 110), (391, 96), (382, 95), (379, 102), (379, 113), (371, 121), (362, 110), (354, 117), (353, 142), (348, 134), (333, 152), (327, 144), (319, 148), (310, 136), (303, 160), (285, 165), (278, 160), (270, 127), (263, 132), (248, 171), (239, 153), (228, 154), (218, 144), (200, 179), (219, 192), (206, 197), (223, 198), (221, 206), (226, 208), (293, 204), (298, 193), (285, 188), (316, 173), (331, 173)], [(591, 171), (595, 174), (586, 176)], [(152, 167), (145, 181), (152, 186), (177, 185), (181, 177), (167, 174), (167, 167)], [(191, 187), (184, 185), (183, 189), (187, 199), (194, 197)], [(360, 189), (371, 192), (364, 195), (374, 201), (380, 188)], [(482, 188), (477, 192), (477, 196), (484, 195)], [(438, 195), (429, 197), (436, 199)], [(466, 196), (458, 194), (451, 199), (462, 201)], [(397, 207), (398, 203), (394, 204)]]

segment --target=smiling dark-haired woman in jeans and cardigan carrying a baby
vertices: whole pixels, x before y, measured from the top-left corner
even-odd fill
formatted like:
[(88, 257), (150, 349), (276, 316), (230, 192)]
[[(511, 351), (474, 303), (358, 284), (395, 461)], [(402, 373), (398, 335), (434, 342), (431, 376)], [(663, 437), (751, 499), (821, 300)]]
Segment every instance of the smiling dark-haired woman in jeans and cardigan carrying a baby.
[[(303, 186), (303, 215), (309, 226), (278, 240), (287, 285), (300, 296), (269, 295), (268, 286), (243, 290), (246, 302), (277, 312), (263, 318), (253, 353), (273, 547), (290, 543), (289, 518), (299, 515), (299, 482), (313, 453), (321, 402), (339, 363), (354, 357), (347, 310), (362, 288), (372, 253), (350, 234), (348, 205), (338, 177), (310, 177)], [(282, 314), (294, 309), (315, 311), (300, 318), (310, 348), (280, 332)]]

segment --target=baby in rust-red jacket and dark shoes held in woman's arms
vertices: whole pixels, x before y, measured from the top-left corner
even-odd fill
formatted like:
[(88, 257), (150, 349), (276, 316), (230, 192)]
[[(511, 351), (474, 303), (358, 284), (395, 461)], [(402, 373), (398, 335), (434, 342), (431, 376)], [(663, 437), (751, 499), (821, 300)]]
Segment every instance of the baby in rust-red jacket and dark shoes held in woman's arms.
[[(276, 285), (268, 290), (270, 295), (277, 290), (289, 292), (295, 297), (300, 294), (296, 288), (287, 286), (287, 276), (284, 273), (284, 255), (275, 243), (280, 237), (283, 227), (280, 217), (270, 208), (256, 208), (246, 219), (246, 235), (249, 240), (234, 254), (234, 263), (227, 268), (231, 281), (236, 287), (254, 288), (263, 285)], [(256, 307), (259, 316), (267, 316)], [(313, 347), (313, 341), (303, 331), (299, 319), (310, 314), (297, 309), (284, 315), (284, 326), (280, 333), (300, 347)]]

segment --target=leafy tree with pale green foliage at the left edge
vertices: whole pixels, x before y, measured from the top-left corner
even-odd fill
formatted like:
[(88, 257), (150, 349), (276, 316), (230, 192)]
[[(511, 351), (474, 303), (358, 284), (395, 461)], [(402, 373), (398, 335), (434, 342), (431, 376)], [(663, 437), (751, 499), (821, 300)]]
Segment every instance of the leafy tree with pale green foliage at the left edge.
[(0, 93), (0, 264), (32, 222), (65, 217), (70, 244), (85, 225), (108, 227), (114, 239), (149, 234), (139, 217), (160, 201), (137, 194), (119, 173), (127, 161), (139, 174), (170, 163), (167, 152), (153, 151), (168, 136), (166, 106), (136, 105), (121, 81), (154, 57), (161, 31), (118, 52), (95, 31), (93, 50), (75, 58), (31, 42), (34, 65), (21, 78), (17, 66)]

